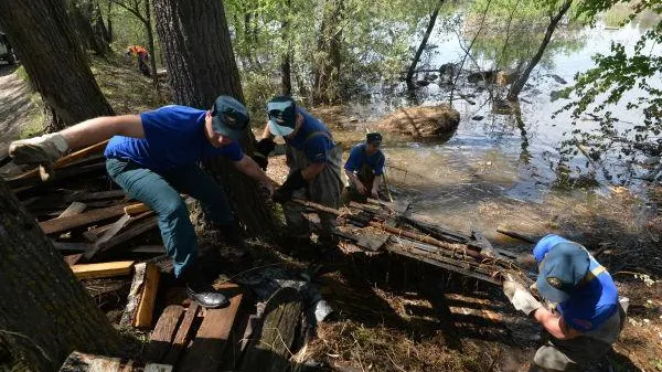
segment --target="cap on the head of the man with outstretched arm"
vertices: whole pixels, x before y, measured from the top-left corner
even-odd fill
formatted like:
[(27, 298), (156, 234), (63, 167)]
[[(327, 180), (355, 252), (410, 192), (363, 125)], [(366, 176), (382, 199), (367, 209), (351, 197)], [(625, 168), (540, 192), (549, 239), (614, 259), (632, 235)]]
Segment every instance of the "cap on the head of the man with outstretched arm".
[(221, 136), (237, 140), (244, 136), (250, 118), (241, 102), (231, 96), (218, 96), (212, 106), (212, 129)]

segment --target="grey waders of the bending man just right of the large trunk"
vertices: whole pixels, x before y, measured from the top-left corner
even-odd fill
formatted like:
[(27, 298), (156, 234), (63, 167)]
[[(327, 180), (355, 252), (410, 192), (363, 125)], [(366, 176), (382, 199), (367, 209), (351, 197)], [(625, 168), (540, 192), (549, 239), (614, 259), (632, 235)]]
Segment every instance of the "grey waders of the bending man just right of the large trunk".
[[(291, 146), (286, 150), (287, 166), (290, 173), (297, 169), (303, 169), (310, 164), (303, 151), (298, 151)], [(340, 194), (342, 191), (342, 179), (340, 169), (342, 164), (342, 149), (335, 146), (329, 153), (329, 160), (324, 169), (310, 182), (308, 188), (301, 188), (295, 191), (295, 198), (301, 198), (314, 203), (338, 209), (340, 206)], [(307, 235), (310, 232), (308, 221), (301, 214), (306, 208), (299, 204), (286, 203), (282, 206), (285, 221), (290, 235)], [(330, 238), (333, 227), (335, 227), (335, 215), (329, 213), (318, 213), (321, 223), (321, 236)]]

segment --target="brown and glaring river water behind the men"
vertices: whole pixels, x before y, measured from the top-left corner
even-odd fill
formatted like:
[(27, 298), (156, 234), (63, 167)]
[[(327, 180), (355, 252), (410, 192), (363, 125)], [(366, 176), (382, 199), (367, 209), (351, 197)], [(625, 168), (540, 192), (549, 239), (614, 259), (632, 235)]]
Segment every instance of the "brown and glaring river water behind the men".
[[(554, 118), (552, 114), (567, 104), (565, 99), (553, 99), (553, 92), (572, 84), (576, 73), (591, 67), (591, 55), (608, 53), (611, 42), (621, 42), (631, 49), (642, 31), (643, 25), (637, 22), (623, 28), (610, 28), (598, 22), (595, 28), (568, 31), (573, 39), (569, 46), (548, 51), (520, 95), (521, 126), (512, 115), (492, 113), (488, 91), (481, 89), (480, 84), (457, 86), (456, 89), (472, 96), (470, 100), (474, 104), (457, 98), (456, 91), (453, 107), (460, 111), (461, 123), (450, 140), (419, 144), (386, 139), (387, 176), (396, 191), (396, 199), (410, 200), (412, 210), (419, 217), (465, 231), (483, 231), (492, 238), (503, 237), (495, 232), (496, 227), (532, 235), (560, 231), (581, 238), (585, 233), (581, 230), (590, 228), (596, 216), (609, 216), (609, 223), (599, 227), (637, 233), (640, 230), (638, 223), (654, 213), (652, 206), (637, 196), (642, 195), (640, 181), (629, 179), (624, 183), (630, 189), (626, 193), (636, 194), (628, 196), (624, 204), (621, 198), (623, 189), (613, 188), (613, 182), (606, 180), (599, 169), (595, 171), (596, 187), (560, 187), (556, 171), (558, 148), (562, 140), (572, 138), (568, 134), (574, 127), (568, 111), (562, 111)], [(462, 42), (469, 44), (470, 38), (465, 38), (467, 40)], [(465, 55), (460, 41), (452, 33), (435, 33), (430, 43), (437, 45), (434, 49), (436, 53), (424, 57), (424, 63), (430, 67), (458, 63)], [(467, 62), (466, 68), (485, 71), (494, 66), (494, 61), (481, 55), (474, 56), (474, 61)], [(357, 141), (371, 123), (384, 113), (402, 106), (448, 102), (449, 97), (449, 86), (439, 79), (418, 89), (415, 97), (405, 91), (404, 84), (382, 86), (367, 99), (345, 107), (349, 115), (361, 124), (355, 130), (341, 132), (339, 137)], [(621, 126), (642, 120), (640, 111), (628, 111), (624, 104), (611, 110), (621, 119)], [(585, 130), (596, 126), (590, 118), (580, 120), (580, 125)], [(569, 166), (577, 177), (590, 173), (596, 167), (618, 171), (620, 164), (607, 159), (594, 166), (579, 153)], [(619, 198), (618, 206), (615, 205), (616, 196)]]

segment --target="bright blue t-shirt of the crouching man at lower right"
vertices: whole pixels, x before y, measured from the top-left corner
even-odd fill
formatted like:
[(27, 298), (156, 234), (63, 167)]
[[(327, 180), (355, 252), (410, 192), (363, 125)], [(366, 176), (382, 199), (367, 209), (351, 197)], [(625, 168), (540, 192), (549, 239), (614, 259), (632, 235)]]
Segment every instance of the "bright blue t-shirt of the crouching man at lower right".
[[(533, 256), (540, 264), (547, 252), (558, 243), (569, 242), (558, 235), (543, 237), (533, 248)], [(589, 255), (589, 270), (596, 270), (600, 264)], [(566, 325), (579, 332), (588, 332), (600, 328), (618, 311), (618, 288), (607, 270), (602, 270), (592, 280), (581, 286), (570, 298), (558, 304), (557, 310)]]

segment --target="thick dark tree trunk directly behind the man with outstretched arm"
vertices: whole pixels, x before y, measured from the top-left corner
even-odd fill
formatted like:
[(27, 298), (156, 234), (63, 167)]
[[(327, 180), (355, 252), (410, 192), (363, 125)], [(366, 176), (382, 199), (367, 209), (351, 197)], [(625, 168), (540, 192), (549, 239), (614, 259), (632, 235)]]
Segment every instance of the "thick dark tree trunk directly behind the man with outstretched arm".
[[(218, 95), (244, 102), (223, 2), (154, 0), (153, 4), (174, 102), (199, 108), (210, 108)], [(242, 147), (250, 153), (254, 141), (248, 127)], [(209, 168), (225, 187), (248, 233), (271, 235), (274, 222), (258, 184), (223, 159)]]

